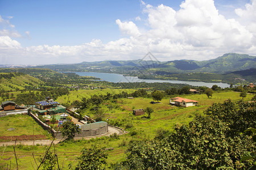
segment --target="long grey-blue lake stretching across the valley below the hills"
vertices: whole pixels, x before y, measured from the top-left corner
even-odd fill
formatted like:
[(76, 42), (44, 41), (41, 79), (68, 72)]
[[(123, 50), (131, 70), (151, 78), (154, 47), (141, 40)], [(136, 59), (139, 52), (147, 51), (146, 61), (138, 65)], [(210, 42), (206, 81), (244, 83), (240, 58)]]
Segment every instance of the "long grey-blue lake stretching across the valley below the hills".
[(179, 84), (188, 84), (191, 86), (206, 86), (212, 87), (214, 84), (220, 86), (221, 88), (229, 87), (229, 84), (226, 83), (205, 83), (205, 82), (188, 82), (188, 81), (179, 81), (179, 80), (151, 80), (151, 79), (139, 79), (137, 76), (123, 76), (122, 74), (115, 73), (96, 73), (96, 72), (72, 72), (80, 76), (95, 76), (101, 80), (113, 83), (121, 82), (146, 82), (146, 83), (179, 83)]

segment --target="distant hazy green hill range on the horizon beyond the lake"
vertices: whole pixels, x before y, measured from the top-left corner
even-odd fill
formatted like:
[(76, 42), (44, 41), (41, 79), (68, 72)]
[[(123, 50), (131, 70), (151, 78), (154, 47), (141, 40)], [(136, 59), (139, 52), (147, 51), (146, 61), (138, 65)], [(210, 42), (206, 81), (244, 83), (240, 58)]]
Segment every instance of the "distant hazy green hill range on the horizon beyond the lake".
[(142, 70), (166, 71), (167, 73), (204, 72), (224, 74), (231, 71), (247, 70), (256, 67), (256, 57), (247, 54), (226, 53), (223, 56), (208, 61), (193, 61), (188, 59), (160, 62), (157, 60), (144, 61), (135, 59), (130, 61), (96, 61), (81, 62), (67, 65), (44, 65), (38, 68), (61, 71), (97, 71), (128, 73), (128, 71)]

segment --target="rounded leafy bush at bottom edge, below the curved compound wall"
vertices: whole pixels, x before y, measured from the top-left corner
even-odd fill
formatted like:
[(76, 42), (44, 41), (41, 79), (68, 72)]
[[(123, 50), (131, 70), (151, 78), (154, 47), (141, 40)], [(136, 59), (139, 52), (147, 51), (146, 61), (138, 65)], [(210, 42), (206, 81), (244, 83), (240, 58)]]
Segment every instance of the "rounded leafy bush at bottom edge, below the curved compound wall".
[(90, 148), (83, 148), (81, 150), (82, 154), (77, 157), (78, 163), (76, 165), (76, 170), (79, 169), (105, 169), (106, 159), (108, 158), (108, 153), (105, 147), (99, 147), (92, 145)]

